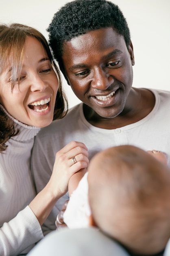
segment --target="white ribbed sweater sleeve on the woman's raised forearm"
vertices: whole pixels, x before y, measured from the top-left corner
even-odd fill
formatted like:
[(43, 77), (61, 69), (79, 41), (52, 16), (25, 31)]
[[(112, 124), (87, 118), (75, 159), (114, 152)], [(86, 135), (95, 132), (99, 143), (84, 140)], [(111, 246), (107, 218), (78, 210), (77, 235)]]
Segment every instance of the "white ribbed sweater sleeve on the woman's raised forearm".
[(16, 256), (43, 238), (41, 226), (27, 206), (0, 228), (0, 255)]

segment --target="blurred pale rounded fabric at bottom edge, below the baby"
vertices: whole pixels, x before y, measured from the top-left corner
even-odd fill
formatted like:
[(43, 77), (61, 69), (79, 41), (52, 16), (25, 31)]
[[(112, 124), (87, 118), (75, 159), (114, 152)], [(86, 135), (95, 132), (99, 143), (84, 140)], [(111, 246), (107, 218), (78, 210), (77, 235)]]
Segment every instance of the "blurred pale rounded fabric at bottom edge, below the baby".
[(116, 241), (94, 228), (51, 232), (28, 256), (129, 256)]

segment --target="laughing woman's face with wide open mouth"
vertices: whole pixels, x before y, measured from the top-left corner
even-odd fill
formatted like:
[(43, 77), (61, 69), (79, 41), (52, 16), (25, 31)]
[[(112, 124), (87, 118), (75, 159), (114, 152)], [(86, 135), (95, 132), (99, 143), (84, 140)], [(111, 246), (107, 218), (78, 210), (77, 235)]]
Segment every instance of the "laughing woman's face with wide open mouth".
[(28, 37), (20, 76), (11, 91), (11, 67), (0, 76), (0, 103), (15, 119), (37, 127), (48, 126), (53, 119), (59, 82), (48, 55), (39, 40)]

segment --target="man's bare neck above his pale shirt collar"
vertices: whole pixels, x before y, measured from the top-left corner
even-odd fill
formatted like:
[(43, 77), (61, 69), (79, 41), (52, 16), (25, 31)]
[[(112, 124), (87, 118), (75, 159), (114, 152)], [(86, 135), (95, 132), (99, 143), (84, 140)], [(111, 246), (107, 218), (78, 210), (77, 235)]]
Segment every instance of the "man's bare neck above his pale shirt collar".
[(133, 95), (130, 95), (129, 98), (126, 101), (124, 110), (113, 118), (101, 117), (92, 108), (84, 104), (83, 112), (85, 119), (98, 128), (116, 129), (140, 121), (155, 106), (155, 96), (151, 91), (146, 89), (135, 88)]

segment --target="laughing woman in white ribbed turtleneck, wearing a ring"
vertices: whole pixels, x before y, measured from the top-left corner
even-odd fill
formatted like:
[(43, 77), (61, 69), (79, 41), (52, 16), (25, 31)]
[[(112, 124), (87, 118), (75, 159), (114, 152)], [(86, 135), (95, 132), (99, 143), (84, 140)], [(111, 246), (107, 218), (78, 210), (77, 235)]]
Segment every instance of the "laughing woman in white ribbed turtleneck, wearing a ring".
[(30, 173), (34, 137), (65, 115), (65, 103), (44, 36), (25, 25), (0, 25), (0, 255), (27, 253), (43, 238), (41, 225), (68, 190), (70, 177), (87, 167), (85, 145), (68, 144), (36, 195)]

